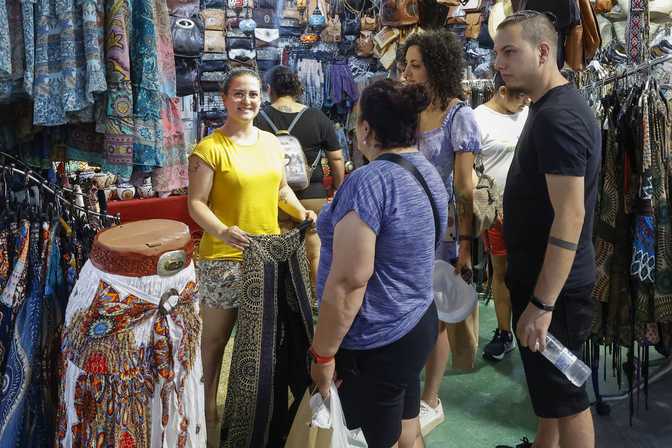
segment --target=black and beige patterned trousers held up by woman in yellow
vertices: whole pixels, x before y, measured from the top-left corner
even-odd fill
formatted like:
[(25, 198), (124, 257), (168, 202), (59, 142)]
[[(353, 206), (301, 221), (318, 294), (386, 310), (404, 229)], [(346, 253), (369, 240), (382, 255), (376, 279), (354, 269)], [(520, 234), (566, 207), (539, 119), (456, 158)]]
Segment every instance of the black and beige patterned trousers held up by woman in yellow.
[(220, 447), (282, 447), (310, 385), (310, 271), (302, 224), (253, 235), (243, 251), (243, 285), (222, 416)]

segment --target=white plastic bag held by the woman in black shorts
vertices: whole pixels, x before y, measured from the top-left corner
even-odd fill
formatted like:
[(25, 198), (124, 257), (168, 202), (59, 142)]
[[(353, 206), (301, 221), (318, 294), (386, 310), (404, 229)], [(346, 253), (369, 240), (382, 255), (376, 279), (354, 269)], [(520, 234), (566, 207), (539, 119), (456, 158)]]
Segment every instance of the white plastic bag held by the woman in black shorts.
[(323, 400), (319, 393), (310, 397), (310, 409), (312, 427), (325, 428), (331, 420), (333, 435), (329, 448), (368, 448), (361, 428), (349, 430), (345, 426), (345, 415), (334, 382), (331, 382), (327, 400)]

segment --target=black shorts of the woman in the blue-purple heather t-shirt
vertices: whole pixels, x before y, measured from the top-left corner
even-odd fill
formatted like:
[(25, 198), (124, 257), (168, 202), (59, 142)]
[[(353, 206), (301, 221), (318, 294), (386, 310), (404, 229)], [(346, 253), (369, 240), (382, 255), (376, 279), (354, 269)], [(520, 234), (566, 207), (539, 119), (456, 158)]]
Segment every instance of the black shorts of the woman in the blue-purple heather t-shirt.
[(349, 429), (362, 428), (369, 448), (390, 448), (401, 435), (401, 420), (420, 413), (420, 372), (436, 344), (439, 322), (432, 301), (413, 330), (370, 350), (339, 349), (338, 390)]

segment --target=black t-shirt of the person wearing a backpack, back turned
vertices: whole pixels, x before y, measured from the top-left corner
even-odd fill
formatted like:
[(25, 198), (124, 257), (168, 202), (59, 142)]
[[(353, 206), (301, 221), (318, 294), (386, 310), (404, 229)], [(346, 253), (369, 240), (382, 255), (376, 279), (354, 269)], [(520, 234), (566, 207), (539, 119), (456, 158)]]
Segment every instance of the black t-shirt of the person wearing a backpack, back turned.
[[(276, 128), (281, 131), (287, 130), (294, 121), (294, 118), (296, 118), (296, 114), (298, 114), (298, 112), (282, 112), (270, 105), (264, 107), (263, 111), (271, 119), (271, 122), (276, 125)], [(261, 130), (271, 132), (271, 134), (274, 133), (271, 125), (268, 124), (261, 114), (257, 115), (254, 119), (254, 125)], [(335, 151), (341, 149), (333, 124), (323, 111), (314, 107), (308, 107), (308, 110), (303, 113), (294, 125), (294, 128), (292, 128), (290, 134), (301, 142), (308, 165), (312, 165), (315, 162), (320, 150)], [(306, 189), (296, 191), (296, 197), (299, 199), (327, 197), (325, 187), (322, 185), (324, 177), (322, 165), (318, 163), (317, 168), (312, 172), (310, 185)]]

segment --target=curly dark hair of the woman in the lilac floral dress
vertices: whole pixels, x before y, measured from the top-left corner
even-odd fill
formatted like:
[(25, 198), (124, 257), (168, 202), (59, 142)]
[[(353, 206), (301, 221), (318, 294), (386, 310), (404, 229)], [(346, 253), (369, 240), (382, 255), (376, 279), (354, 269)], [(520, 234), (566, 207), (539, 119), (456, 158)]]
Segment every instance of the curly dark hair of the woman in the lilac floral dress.
[(446, 109), (452, 98), (462, 99), (464, 58), (462, 44), (455, 35), (442, 29), (413, 34), (404, 42), (404, 54), (413, 45), (420, 47), (429, 85), (434, 89), (434, 99), (439, 100), (441, 109)]

